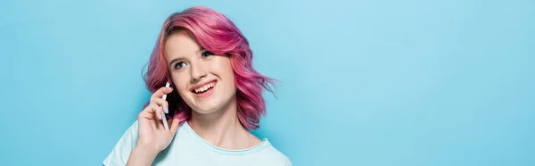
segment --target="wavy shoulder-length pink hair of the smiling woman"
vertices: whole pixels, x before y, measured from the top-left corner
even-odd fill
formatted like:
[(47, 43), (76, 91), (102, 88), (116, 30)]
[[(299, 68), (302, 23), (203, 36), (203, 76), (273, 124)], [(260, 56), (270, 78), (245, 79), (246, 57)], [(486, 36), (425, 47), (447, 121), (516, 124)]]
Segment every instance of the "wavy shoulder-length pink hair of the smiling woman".
[[(167, 37), (179, 29), (186, 29), (206, 50), (214, 54), (230, 55), (237, 88), (238, 119), (245, 129), (259, 129), (260, 117), (266, 115), (262, 90), (265, 88), (273, 93), (269, 84), (273, 85), (275, 79), (269, 79), (253, 69), (252, 52), (247, 38), (225, 15), (210, 8), (192, 7), (183, 12), (173, 13), (166, 19), (147, 63), (147, 72), (144, 74), (148, 90), (154, 93), (169, 80), (163, 46)], [(191, 108), (185, 104), (177, 91), (168, 95), (168, 101), (169, 113), (175, 111), (173, 118), (181, 121), (191, 118)]]

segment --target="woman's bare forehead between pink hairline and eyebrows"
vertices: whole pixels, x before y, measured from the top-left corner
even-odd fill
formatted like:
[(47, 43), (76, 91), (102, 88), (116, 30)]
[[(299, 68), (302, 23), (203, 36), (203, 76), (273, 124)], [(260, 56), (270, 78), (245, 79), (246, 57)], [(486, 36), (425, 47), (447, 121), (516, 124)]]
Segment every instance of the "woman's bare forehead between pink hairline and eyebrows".
[(164, 44), (165, 55), (173, 58), (195, 54), (200, 48), (185, 30), (172, 33)]

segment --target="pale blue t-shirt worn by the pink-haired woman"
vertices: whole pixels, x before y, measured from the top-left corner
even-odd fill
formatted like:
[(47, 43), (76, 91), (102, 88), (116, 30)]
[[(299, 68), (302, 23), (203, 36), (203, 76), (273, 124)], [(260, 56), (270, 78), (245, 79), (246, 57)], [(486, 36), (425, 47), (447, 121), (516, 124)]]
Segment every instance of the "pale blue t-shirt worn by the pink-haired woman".
[[(111, 154), (103, 161), (105, 166), (126, 165), (130, 151), (137, 142), (137, 120), (130, 126)], [(184, 122), (169, 146), (160, 152), (152, 162), (157, 166), (291, 166), (292, 162), (276, 150), (267, 138), (261, 144), (242, 150), (216, 147), (204, 141)]]

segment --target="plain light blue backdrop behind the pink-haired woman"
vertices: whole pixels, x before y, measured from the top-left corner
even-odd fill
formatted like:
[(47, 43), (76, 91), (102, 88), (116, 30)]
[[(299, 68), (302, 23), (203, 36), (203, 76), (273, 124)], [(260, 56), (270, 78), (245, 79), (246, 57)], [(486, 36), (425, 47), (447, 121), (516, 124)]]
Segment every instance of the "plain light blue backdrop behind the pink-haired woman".
[(4, 0), (2, 165), (100, 165), (149, 98), (161, 24), (193, 5), (282, 81), (254, 134), (294, 165), (535, 165), (529, 0)]

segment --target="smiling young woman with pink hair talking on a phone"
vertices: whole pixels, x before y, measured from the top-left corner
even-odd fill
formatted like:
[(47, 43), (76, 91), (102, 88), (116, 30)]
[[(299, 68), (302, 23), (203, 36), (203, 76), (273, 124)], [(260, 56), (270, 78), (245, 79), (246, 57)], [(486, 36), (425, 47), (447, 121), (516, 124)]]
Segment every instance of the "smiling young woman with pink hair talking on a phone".
[(151, 100), (104, 165), (292, 165), (250, 132), (266, 113), (262, 90), (271, 92), (273, 80), (253, 69), (247, 39), (223, 14), (206, 7), (171, 14), (144, 79)]

